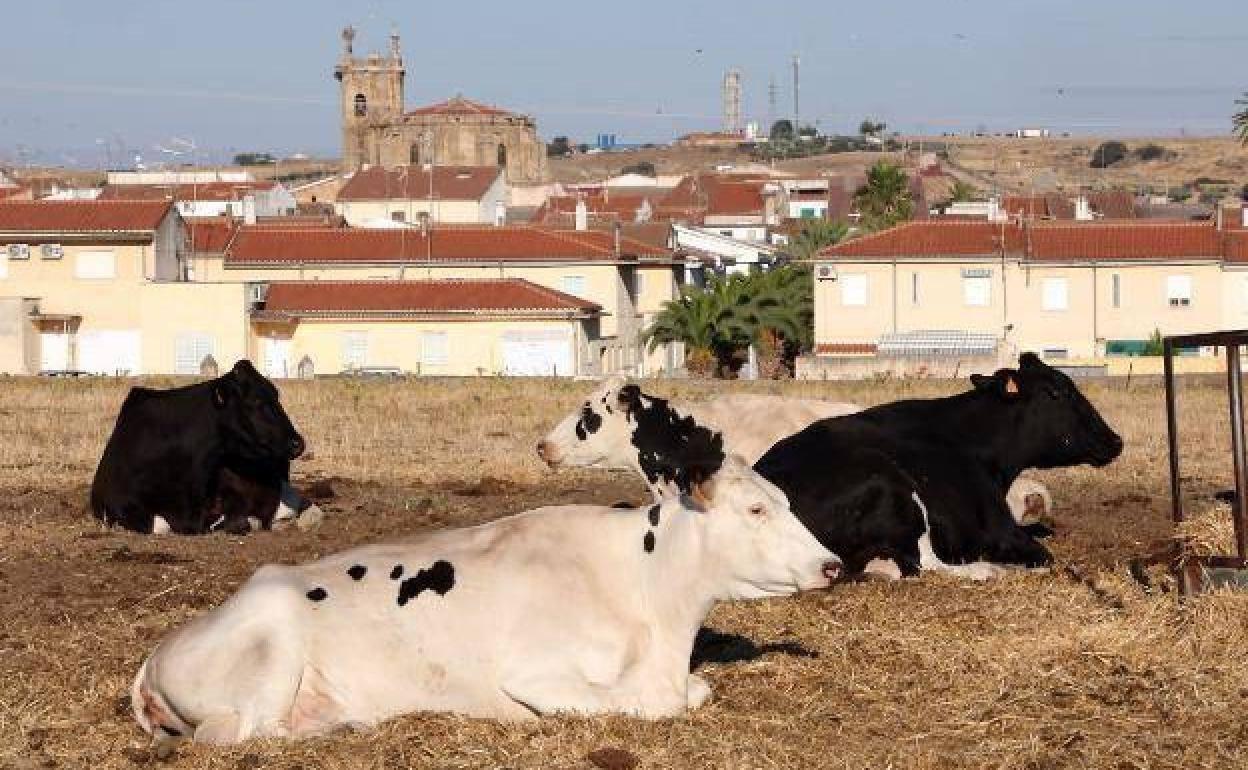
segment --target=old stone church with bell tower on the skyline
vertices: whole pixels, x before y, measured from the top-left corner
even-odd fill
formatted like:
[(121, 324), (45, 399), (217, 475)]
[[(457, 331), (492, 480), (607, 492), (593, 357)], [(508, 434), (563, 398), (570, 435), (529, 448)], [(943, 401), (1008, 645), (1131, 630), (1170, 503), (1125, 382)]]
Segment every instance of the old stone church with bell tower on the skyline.
[(342, 31), (333, 76), (342, 94), (342, 167), (366, 165), (499, 166), (510, 185), (545, 176), (545, 144), (537, 122), (463, 96), (404, 111), (403, 56), (398, 34), (386, 56), (354, 55), (356, 30)]

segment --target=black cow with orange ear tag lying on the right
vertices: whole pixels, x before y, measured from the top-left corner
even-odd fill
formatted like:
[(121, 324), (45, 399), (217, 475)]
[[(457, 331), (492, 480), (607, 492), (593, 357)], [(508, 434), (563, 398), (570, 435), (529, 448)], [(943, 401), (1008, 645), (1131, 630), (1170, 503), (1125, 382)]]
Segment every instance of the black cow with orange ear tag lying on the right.
[(972, 578), (1043, 567), (1006, 490), (1026, 468), (1104, 465), (1122, 439), (1066, 374), (1023, 353), (1020, 368), (971, 378), (948, 398), (900, 401), (819, 421), (776, 443), (755, 470), (836, 553), (846, 573), (891, 559)]

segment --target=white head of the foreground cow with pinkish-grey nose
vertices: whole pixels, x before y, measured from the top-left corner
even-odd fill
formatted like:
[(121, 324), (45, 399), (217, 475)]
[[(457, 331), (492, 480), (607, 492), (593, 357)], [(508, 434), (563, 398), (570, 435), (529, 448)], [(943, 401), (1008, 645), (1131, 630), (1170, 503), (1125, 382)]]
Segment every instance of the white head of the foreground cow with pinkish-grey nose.
[(824, 548), (789, 508), (775, 484), (740, 456), (695, 482), (681, 515), (698, 517), (708, 533), (706, 574), (719, 599), (760, 599), (826, 588), (841, 560)]

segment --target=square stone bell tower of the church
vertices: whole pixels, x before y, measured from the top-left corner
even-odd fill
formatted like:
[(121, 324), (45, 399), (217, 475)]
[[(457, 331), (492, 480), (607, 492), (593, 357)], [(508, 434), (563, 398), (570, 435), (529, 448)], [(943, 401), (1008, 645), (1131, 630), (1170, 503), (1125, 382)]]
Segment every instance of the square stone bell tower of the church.
[(398, 32), (389, 55), (354, 55), (356, 30), (342, 30), (342, 56), (333, 69), (342, 95), (342, 168), (381, 162), (382, 132), (403, 115), (403, 56)]

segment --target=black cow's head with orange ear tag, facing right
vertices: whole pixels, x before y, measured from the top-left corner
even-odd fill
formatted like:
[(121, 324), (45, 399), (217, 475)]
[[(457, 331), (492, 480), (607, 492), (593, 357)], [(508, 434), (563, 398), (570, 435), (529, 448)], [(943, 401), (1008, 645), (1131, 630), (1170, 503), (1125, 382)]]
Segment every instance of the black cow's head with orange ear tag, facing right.
[(1008, 454), (1021, 468), (1101, 467), (1122, 453), (1122, 438), (1071, 378), (1035, 353), (1018, 357), (1017, 369), (972, 376), (976, 389), (1011, 404)]

